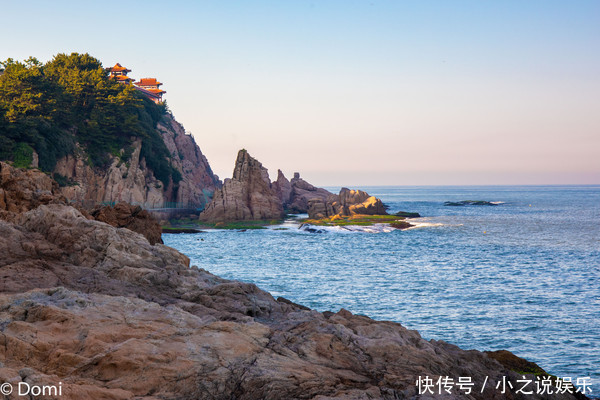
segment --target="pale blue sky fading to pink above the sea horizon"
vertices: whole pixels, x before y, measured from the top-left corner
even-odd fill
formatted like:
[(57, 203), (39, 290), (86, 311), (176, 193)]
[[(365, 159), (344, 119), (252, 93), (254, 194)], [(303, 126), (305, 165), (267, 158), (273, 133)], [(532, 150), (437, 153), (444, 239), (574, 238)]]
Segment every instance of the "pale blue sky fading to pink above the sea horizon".
[(7, 1), (0, 59), (156, 77), (220, 178), (600, 184), (600, 2)]

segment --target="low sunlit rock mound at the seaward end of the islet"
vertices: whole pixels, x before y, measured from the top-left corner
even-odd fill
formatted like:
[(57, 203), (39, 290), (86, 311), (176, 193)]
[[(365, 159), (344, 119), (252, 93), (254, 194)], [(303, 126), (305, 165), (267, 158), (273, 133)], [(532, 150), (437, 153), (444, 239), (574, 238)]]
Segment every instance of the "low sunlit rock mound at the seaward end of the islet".
[(387, 215), (387, 212), (380, 199), (362, 190), (342, 188), (339, 195), (309, 201), (309, 218), (322, 219), (334, 215)]

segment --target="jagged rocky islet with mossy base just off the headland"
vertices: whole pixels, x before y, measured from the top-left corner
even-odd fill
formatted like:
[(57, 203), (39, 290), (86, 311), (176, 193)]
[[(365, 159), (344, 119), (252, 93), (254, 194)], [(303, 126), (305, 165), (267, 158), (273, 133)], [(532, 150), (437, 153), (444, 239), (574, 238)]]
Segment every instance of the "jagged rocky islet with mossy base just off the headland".
[(199, 220), (220, 227), (240, 221), (278, 222), (286, 213), (306, 213), (304, 222), (311, 225), (412, 226), (403, 215), (388, 215), (380, 199), (361, 190), (342, 188), (333, 194), (306, 182), (299, 173), (289, 181), (281, 170), (271, 182), (267, 169), (244, 149), (238, 153), (233, 177), (215, 190)]

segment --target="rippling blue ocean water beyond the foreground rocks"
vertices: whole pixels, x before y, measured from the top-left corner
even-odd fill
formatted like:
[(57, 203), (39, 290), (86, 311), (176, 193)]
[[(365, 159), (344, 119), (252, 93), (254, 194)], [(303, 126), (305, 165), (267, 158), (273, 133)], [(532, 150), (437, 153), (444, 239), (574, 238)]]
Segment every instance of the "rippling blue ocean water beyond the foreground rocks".
[[(273, 296), (465, 349), (507, 349), (560, 377), (590, 376), (600, 392), (600, 186), (361, 189), (423, 218), (405, 231), (315, 234), (289, 221), (163, 239)], [(444, 206), (461, 200), (501, 203)]]

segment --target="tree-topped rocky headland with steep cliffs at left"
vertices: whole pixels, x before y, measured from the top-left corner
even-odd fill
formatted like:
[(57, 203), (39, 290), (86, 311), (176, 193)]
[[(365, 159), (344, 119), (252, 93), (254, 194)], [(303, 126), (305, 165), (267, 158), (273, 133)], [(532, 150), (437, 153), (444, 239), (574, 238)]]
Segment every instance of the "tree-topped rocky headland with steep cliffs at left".
[(220, 187), (166, 103), (89, 54), (8, 59), (0, 70), (0, 161), (52, 175), (69, 201), (195, 211)]

